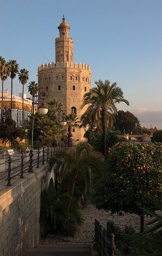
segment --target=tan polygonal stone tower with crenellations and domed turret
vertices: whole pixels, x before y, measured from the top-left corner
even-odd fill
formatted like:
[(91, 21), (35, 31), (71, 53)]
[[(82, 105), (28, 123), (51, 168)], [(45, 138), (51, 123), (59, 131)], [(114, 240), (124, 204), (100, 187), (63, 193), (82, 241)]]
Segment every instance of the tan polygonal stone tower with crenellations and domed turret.
[[(73, 38), (69, 37), (70, 26), (63, 16), (58, 26), (59, 37), (55, 38), (55, 63), (45, 63), (38, 67), (38, 86), (49, 91), (48, 102), (56, 98), (63, 102), (67, 114), (77, 117), (87, 107), (80, 108), (83, 95), (91, 89), (91, 68), (89, 65), (73, 63)], [(84, 130), (73, 129), (73, 140), (83, 140)]]

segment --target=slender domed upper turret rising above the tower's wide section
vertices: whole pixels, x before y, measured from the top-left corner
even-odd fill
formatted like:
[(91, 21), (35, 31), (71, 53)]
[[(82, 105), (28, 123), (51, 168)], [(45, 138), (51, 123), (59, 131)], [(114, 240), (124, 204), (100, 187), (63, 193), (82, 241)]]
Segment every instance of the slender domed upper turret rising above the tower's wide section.
[(63, 15), (59, 29), (59, 37), (55, 39), (55, 62), (73, 62), (73, 38), (69, 37), (70, 26)]

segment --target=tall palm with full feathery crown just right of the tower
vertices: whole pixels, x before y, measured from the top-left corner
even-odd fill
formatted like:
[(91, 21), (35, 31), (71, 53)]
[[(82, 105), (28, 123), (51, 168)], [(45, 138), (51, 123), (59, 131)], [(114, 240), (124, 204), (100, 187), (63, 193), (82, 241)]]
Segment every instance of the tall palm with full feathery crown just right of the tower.
[(122, 89), (117, 86), (116, 82), (111, 84), (109, 80), (105, 80), (105, 82), (99, 80), (95, 81), (95, 84), (97, 87), (91, 88), (91, 90), (83, 96), (83, 104), (81, 108), (87, 104), (90, 104), (89, 108), (92, 106), (96, 111), (101, 111), (104, 156), (106, 158), (107, 116), (109, 116), (112, 121), (112, 114), (117, 113), (117, 107), (115, 106), (115, 103), (125, 102), (127, 105), (129, 105), (129, 102), (128, 100), (124, 99)]

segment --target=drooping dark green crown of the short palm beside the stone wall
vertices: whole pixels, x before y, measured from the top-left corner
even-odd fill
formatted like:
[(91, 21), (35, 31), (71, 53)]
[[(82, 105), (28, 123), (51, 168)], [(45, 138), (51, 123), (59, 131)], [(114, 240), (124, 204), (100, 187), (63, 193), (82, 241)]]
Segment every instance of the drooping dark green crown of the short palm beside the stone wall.
[(71, 177), (69, 195), (72, 198), (75, 187), (80, 181), (84, 181), (83, 193), (89, 190), (91, 175), (93, 172), (101, 172), (101, 163), (101, 158), (93, 152), (88, 142), (79, 142), (76, 148), (55, 151), (49, 159), (49, 171), (56, 167), (61, 184), (67, 180), (67, 176)]

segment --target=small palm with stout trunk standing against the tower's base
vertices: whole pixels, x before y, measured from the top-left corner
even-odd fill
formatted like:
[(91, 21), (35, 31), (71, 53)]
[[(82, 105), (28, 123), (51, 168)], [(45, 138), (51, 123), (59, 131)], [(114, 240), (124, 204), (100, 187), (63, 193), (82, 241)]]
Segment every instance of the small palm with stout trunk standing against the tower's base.
[(78, 121), (78, 117), (76, 117), (75, 114), (70, 113), (69, 115), (66, 116), (65, 120), (67, 122), (67, 146), (68, 147), (72, 147), (73, 145), (73, 134), (72, 134), (72, 128), (73, 127), (79, 127), (79, 121)]

